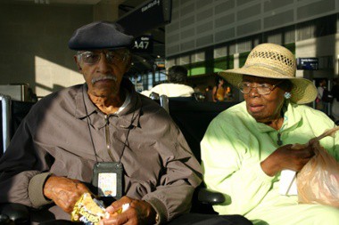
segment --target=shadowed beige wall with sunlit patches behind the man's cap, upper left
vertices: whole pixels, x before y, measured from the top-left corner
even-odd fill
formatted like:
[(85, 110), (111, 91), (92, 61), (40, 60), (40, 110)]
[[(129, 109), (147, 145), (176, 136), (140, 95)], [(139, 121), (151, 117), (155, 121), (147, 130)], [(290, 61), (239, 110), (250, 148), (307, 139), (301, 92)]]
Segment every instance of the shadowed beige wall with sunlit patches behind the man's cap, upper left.
[(76, 28), (116, 20), (120, 1), (96, 5), (1, 4), (0, 84), (28, 83), (37, 96), (83, 83), (68, 48)]

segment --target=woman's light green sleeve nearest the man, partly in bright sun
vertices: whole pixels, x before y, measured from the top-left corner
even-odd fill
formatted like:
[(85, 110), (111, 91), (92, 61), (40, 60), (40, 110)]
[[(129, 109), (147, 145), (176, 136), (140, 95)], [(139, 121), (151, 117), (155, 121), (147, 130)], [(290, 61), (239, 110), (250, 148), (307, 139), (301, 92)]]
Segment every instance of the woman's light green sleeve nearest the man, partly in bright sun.
[(214, 206), (221, 214), (251, 211), (266, 196), (274, 180), (261, 170), (257, 157), (250, 159), (259, 145), (252, 141), (251, 147), (246, 146), (247, 142), (242, 139), (251, 139), (252, 134), (248, 130), (239, 133), (236, 126), (236, 121), (218, 117), (212, 121), (201, 143), (207, 187), (230, 197), (227, 203)]

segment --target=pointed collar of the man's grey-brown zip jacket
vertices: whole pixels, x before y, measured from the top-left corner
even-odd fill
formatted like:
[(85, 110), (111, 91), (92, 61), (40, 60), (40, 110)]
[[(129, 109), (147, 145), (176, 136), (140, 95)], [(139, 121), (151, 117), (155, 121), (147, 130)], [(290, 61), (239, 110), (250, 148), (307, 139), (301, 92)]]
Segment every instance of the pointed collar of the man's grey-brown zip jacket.
[[(140, 111), (141, 111), (141, 98), (136, 93), (134, 85), (129, 81), (128, 78), (124, 77), (120, 84), (121, 89), (125, 89), (131, 96), (131, 100), (126, 108), (124, 108), (118, 115), (109, 115), (109, 117), (119, 117), (118, 124), (121, 128), (130, 128), (130, 126), (138, 126)], [(86, 108), (84, 105), (86, 104)], [(106, 122), (103, 119), (104, 114), (95, 104), (89, 99), (87, 95), (87, 84), (83, 84), (75, 96), (75, 117), (79, 119), (85, 119), (90, 117), (91, 125), (96, 129), (102, 128)], [(98, 117), (102, 115), (102, 117)]]

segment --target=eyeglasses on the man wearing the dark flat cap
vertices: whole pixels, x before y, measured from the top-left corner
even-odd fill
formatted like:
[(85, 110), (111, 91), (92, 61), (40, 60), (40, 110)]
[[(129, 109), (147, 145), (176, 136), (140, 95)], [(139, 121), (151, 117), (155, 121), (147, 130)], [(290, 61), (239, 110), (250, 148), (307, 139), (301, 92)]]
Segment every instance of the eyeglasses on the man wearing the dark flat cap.
[(104, 55), (106, 57), (106, 60), (110, 64), (117, 64), (122, 61), (125, 61), (128, 59), (129, 52), (124, 50), (115, 50), (115, 51), (108, 51), (108, 52), (79, 52), (77, 55), (80, 57), (80, 59), (89, 64), (93, 65), (97, 63), (101, 59), (101, 55)]

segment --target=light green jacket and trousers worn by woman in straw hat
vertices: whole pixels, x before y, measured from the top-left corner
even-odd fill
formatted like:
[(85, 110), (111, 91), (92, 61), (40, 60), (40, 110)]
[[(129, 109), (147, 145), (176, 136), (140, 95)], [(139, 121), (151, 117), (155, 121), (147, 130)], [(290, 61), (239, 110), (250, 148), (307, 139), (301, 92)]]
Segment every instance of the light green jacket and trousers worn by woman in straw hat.
[[(227, 203), (214, 206), (220, 214), (242, 214), (254, 224), (339, 224), (339, 209), (298, 205), (297, 196), (279, 194), (279, 177), (269, 177), (260, 162), (283, 145), (306, 143), (335, 126), (324, 113), (303, 105), (285, 104), (280, 131), (257, 123), (245, 102), (221, 112), (201, 142), (204, 181), (209, 189), (227, 194)], [(339, 133), (320, 144), (339, 161)], [(227, 205), (229, 204), (229, 205)]]

